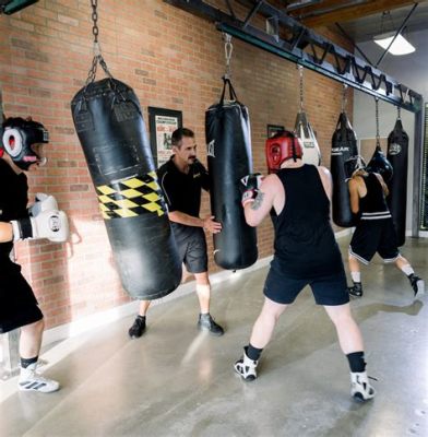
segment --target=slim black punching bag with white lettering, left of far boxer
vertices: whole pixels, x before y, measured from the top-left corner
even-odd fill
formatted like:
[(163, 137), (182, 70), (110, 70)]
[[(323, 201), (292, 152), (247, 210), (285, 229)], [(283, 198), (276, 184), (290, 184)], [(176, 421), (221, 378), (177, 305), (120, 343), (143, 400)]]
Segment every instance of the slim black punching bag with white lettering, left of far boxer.
[(332, 138), (330, 170), (333, 179), (333, 222), (337, 226), (354, 226), (345, 162), (358, 155), (357, 137), (345, 111), (341, 113)]

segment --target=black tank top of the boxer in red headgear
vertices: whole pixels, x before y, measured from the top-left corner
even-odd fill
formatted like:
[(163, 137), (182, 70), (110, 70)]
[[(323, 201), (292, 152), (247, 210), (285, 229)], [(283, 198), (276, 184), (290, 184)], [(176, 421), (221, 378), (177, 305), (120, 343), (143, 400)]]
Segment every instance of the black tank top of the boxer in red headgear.
[(272, 268), (294, 279), (313, 279), (343, 270), (341, 251), (330, 224), (330, 201), (318, 169), (305, 164), (276, 174), (285, 205), (275, 225)]

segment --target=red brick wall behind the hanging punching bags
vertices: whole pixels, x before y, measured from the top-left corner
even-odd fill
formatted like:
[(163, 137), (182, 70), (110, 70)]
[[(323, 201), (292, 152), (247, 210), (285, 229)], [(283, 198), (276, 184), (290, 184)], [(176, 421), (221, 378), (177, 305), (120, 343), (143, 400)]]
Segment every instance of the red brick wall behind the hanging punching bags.
[[(48, 327), (128, 302), (112, 263), (86, 163), (74, 132), (70, 101), (84, 84), (92, 60), (88, 0), (40, 0), (0, 16), (0, 86), (4, 113), (32, 115), (50, 132), (47, 167), (29, 177), (32, 197), (52, 193), (70, 217), (64, 245), (16, 245)], [(204, 111), (219, 97), (224, 45), (214, 25), (160, 0), (99, 2), (99, 40), (111, 73), (132, 86), (147, 120), (147, 106), (181, 110), (195, 130), (206, 163)], [(298, 108), (296, 66), (234, 39), (233, 83), (249, 107), (254, 169), (265, 173), (266, 125), (294, 126)], [(98, 73), (98, 79), (103, 78)], [(341, 85), (305, 72), (305, 106), (323, 153), (341, 108)], [(4, 188), (2, 188), (4, 189)], [(209, 214), (204, 196), (201, 214)], [(210, 251), (212, 251), (211, 237)], [(272, 252), (270, 221), (259, 228), (259, 252)], [(211, 262), (211, 270), (218, 270)]]

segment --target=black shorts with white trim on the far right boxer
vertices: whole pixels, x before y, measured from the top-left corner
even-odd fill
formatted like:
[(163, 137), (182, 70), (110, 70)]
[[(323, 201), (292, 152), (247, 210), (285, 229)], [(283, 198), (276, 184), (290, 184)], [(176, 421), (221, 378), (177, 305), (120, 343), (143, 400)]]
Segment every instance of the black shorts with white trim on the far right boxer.
[(384, 262), (394, 262), (400, 251), (392, 218), (361, 220), (349, 244), (349, 255), (368, 264), (378, 252)]

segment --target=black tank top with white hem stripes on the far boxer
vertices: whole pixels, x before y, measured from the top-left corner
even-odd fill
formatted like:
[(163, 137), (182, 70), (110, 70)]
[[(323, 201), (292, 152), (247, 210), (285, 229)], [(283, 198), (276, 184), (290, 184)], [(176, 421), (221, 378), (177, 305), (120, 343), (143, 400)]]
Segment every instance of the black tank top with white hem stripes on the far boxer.
[(373, 173), (362, 176), (367, 194), (359, 200), (361, 220), (381, 220), (391, 217), (382, 185)]

